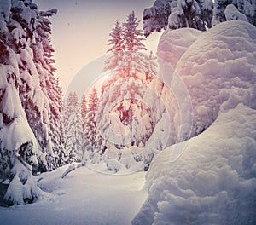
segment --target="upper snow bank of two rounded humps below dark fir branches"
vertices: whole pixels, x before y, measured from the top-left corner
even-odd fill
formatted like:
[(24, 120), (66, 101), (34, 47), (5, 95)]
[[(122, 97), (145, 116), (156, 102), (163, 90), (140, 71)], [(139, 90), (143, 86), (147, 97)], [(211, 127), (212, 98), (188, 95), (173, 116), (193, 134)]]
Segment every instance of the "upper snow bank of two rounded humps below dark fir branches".
[[(187, 38), (178, 42), (177, 37), (189, 37), (189, 32), (190, 46)], [(185, 104), (191, 99), (194, 125), (186, 129), (192, 129), (192, 136), (207, 129), (219, 110), (234, 108), (240, 102), (256, 107), (256, 29), (251, 24), (228, 21), (201, 34), (189, 28), (167, 31), (160, 39), (158, 53), (160, 77), (176, 94), (182, 113), (188, 112)], [(184, 82), (183, 88), (177, 78)], [(181, 97), (183, 100), (178, 99)], [(171, 118), (176, 114), (173, 112)]]

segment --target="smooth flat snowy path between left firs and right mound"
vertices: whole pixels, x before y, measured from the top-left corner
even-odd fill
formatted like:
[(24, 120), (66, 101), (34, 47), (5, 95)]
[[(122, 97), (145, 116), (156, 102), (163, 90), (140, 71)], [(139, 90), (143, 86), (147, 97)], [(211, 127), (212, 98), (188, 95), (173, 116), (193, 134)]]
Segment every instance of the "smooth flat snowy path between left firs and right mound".
[(67, 167), (45, 173), (40, 182), (49, 196), (32, 205), (0, 207), (0, 224), (131, 224), (147, 198), (145, 173), (111, 176)]

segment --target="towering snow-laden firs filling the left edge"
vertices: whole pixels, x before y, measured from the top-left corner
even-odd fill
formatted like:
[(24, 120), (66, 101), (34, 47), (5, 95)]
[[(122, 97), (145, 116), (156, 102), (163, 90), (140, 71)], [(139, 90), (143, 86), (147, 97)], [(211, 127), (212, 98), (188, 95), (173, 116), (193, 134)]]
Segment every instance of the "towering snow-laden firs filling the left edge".
[(37, 199), (32, 170), (63, 162), (62, 94), (49, 40), (55, 13), (38, 11), (31, 0), (0, 3), (0, 174), (9, 204)]

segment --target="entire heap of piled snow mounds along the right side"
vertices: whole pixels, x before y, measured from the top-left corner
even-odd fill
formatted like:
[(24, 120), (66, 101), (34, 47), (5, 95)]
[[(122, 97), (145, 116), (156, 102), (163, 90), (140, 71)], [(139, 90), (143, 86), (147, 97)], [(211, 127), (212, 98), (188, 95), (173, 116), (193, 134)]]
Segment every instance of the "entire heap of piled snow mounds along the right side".
[[(173, 37), (185, 32), (195, 41), (175, 44)], [(201, 34), (166, 33), (158, 53), (186, 84), (196, 137), (166, 148), (151, 165), (148, 199), (132, 223), (255, 224), (256, 28), (229, 21)], [(179, 60), (172, 60), (171, 48)], [(173, 73), (165, 69), (160, 65), (172, 87)], [(178, 147), (186, 148), (173, 160)]]

